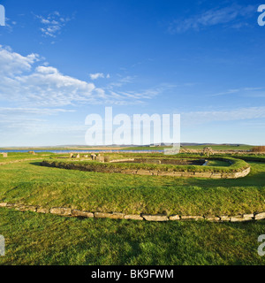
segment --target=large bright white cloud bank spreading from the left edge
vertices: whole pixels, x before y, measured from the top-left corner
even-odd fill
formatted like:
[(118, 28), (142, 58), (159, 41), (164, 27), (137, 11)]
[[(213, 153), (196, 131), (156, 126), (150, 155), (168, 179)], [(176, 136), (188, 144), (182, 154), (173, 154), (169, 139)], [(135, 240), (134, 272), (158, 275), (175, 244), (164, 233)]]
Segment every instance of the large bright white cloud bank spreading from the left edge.
[[(22, 56), (10, 48), (0, 46), (0, 101), (23, 107), (57, 107), (76, 104), (132, 104), (141, 103), (162, 89), (140, 93), (122, 91), (114, 95), (114, 86), (97, 88), (94, 83), (64, 75), (49, 66), (37, 54)], [(122, 85), (131, 77), (120, 80)]]

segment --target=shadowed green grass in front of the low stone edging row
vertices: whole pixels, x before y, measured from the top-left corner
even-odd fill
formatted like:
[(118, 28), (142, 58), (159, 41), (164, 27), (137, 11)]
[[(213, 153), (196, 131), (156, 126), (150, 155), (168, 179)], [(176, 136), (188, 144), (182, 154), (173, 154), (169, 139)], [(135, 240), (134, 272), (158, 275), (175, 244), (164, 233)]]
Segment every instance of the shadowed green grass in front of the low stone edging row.
[(257, 241), (265, 222), (148, 223), (61, 218), (0, 209), (0, 264), (265, 264)]

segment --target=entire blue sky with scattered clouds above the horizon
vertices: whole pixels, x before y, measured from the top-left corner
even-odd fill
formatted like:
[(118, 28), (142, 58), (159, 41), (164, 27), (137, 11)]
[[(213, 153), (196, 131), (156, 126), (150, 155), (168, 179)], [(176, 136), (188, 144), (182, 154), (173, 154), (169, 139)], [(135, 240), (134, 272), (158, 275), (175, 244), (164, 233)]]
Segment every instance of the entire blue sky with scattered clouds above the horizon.
[(0, 146), (85, 144), (105, 106), (181, 114), (182, 142), (265, 143), (265, 3), (0, 4)]

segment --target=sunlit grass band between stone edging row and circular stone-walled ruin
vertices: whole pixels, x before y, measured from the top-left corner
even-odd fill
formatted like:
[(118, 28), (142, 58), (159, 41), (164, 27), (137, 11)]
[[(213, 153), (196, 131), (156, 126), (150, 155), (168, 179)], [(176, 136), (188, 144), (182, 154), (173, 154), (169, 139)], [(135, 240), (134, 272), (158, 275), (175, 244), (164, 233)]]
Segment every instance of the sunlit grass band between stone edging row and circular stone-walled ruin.
[(265, 164), (239, 180), (79, 172), (40, 163), (0, 168), (0, 201), (125, 213), (237, 215), (265, 211)]

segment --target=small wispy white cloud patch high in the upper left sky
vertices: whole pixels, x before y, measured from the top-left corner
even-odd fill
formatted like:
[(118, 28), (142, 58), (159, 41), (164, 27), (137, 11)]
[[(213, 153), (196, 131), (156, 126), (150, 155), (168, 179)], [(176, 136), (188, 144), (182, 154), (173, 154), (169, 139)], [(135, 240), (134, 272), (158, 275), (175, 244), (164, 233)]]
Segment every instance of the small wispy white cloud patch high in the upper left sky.
[(58, 11), (50, 13), (47, 17), (36, 16), (40, 20), (42, 27), (42, 35), (47, 37), (57, 37), (61, 33), (62, 28), (71, 18), (65, 18)]

